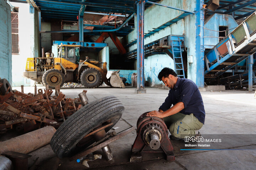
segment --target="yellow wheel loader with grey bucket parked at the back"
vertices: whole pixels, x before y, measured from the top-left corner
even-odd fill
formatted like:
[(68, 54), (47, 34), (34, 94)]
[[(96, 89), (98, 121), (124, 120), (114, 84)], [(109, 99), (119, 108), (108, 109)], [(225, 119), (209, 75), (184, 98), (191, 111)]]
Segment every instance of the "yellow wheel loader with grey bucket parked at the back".
[[(27, 58), (26, 70), (23, 77), (49, 85), (50, 89), (60, 87), (65, 82), (81, 82), (87, 88), (95, 88), (103, 82), (112, 87), (123, 87), (124, 84), (117, 73), (112, 73), (107, 79), (107, 63), (95, 60), (80, 60), (80, 45), (59, 45), (58, 57)], [(102, 68), (97, 67), (103, 64)], [(113, 83), (112, 83), (113, 82)]]

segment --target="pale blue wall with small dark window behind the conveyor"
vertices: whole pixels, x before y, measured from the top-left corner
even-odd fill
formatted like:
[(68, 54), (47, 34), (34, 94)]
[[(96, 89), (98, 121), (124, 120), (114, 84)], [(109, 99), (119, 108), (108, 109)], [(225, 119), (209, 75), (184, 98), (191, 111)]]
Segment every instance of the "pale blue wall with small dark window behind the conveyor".
[(230, 29), (228, 34), (230, 34), (238, 26), (238, 24), (231, 15), (215, 13), (214, 15), (207, 18), (204, 22), (204, 28), (206, 28), (204, 29), (204, 47), (206, 49), (212, 49), (216, 44), (218, 44), (219, 38), (216, 37), (219, 37), (219, 32), (216, 31), (219, 31), (219, 26), (228, 27), (228, 29)]

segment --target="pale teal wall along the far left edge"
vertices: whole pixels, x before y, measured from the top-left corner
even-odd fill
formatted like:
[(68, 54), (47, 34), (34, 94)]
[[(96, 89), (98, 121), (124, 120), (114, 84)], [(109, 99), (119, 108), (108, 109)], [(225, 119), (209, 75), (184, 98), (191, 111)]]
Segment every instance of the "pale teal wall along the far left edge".
[(12, 81), (11, 55), (11, 9), (0, 0), (0, 77)]

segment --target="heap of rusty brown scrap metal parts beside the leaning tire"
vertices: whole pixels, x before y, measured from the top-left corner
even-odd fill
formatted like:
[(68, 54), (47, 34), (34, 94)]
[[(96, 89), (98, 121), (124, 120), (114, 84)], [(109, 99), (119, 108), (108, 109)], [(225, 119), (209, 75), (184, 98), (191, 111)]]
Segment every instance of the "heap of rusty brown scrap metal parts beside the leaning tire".
[[(80, 98), (65, 98), (59, 90), (53, 96), (51, 89), (44, 92), (38, 89), (38, 94), (36, 87), (35, 94), (8, 90), (5, 95), (0, 95), (0, 133), (14, 128), (26, 132), (47, 125), (58, 128), (66, 118), (82, 107)], [(83, 91), (84, 94), (86, 92)]]

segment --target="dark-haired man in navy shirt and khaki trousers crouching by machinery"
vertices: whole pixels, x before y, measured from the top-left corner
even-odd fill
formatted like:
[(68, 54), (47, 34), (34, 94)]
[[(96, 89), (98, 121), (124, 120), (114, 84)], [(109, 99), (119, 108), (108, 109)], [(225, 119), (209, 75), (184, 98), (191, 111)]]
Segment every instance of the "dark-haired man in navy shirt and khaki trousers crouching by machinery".
[(170, 91), (159, 110), (151, 111), (147, 116), (163, 118), (173, 140), (201, 136), (198, 130), (204, 124), (205, 111), (197, 85), (192, 80), (179, 78), (174, 70), (167, 67), (161, 70), (158, 79)]

